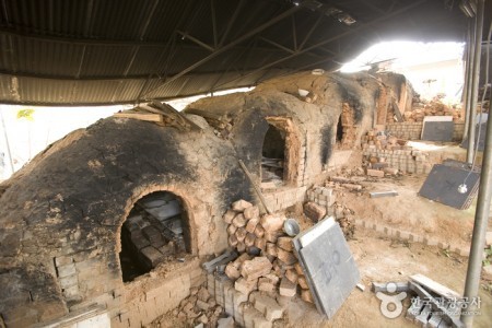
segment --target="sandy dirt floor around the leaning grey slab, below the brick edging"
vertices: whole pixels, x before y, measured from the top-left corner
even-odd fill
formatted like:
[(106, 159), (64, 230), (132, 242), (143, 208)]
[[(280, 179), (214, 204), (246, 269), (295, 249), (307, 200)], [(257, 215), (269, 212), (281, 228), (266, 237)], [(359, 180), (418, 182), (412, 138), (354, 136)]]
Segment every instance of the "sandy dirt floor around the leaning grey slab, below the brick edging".
[[(349, 242), (355, 262), (366, 286), (355, 289), (331, 320), (326, 320), (314, 305), (292, 301), (285, 327), (418, 327), (405, 319), (405, 311), (396, 319), (385, 318), (379, 311), (379, 300), (371, 292), (371, 282), (408, 281), (408, 277), (422, 273), (462, 293), (467, 270), (466, 258), (447, 257), (437, 247), (422, 244), (402, 244), (379, 236), (374, 232), (358, 230), (355, 239)], [(492, 295), (480, 290), (481, 315), (473, 327), (490, 327), (492, 323)], [(407, 297), (409, 303), (410, 297)]]

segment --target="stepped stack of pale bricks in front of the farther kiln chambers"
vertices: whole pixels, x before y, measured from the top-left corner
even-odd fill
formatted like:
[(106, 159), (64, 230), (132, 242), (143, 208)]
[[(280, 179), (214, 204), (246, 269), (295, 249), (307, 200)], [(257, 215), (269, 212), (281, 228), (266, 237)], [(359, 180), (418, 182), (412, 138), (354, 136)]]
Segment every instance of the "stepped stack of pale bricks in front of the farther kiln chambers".
[(398, 171), (415, 174), (431, 172), (429, 153), (400, 145), (395, 137), (370, 131), (362, 138), (362, 154), (367, 161), (368, 176), (384, 177), (385, 174), (395, 175)]

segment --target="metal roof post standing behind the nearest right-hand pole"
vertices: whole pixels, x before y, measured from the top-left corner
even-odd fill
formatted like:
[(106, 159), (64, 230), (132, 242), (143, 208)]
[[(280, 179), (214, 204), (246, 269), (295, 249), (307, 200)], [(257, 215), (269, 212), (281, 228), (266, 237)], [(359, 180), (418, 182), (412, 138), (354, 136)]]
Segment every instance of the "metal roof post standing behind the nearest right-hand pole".
[(475, 157), (475, 116), (477, 115), (478, 90), (480, 81), (480, 56), (482, 54), (483, 10), (485, 0), (478, 0), (477, 17), (475, 24), (473, 71), (470, 95), (470, 115), (468, 117), (468, 150), (467, 163), (472, 164)]

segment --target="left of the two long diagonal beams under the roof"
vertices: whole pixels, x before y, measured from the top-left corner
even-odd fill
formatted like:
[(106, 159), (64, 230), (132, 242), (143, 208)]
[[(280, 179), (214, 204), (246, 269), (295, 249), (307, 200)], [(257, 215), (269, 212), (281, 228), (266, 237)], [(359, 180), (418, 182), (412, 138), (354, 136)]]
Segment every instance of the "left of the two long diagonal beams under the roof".
[[(202, 66), (203, 63), (212, 60), (213, 58), (215, 58), (216, 56), (227, 51), (229, 49), (233, 48), (234, 46), (243, 43), (244, 40), (250, 38), (251, 36), (260, 33), (261, 31), (272, 26), (273, 24), (277, 24), (279, 21), (292, 15), (294, 12), (298, 11), (302, 8), (302, 5), (295, 5), (292, 7), (291, 9), (284, 11), (283, 13), (281, 13), (280, 15), (278, 15), (274, 19), (269, 20), (268, 22), (261, 24), (260, 26), (251, 30), (250, 32), (246, 33), (245, 35), (234, 39), (233, 42), (229, 43), (227, 45), (216, 49), (215, 51), (213, 51), (212, 54), (210, 54), (209, 56), (204, 57), (203, 59), (195, 62), (194, 65), (189, 66), (188, 68), (184, 69), (181, 72), (177, 73), (176, 75), (169, 78), (167, 81), (165, 81), (163, 84), (161, 84), (160, 86), (157, 86), (156, 89), (150, 91), (150, 92), (154, 92), (155, 90), (159, 90), (163, 86), (165, 86), (168, 83), (172, 83), (173, 81), (175, 81), (176, 79), (179, 79), (180, 77), (187, 74), (188, 72), (192, 71), (194, 69)], [(149, 92), (149, 93), (150, 93)]]

